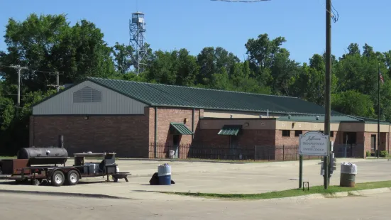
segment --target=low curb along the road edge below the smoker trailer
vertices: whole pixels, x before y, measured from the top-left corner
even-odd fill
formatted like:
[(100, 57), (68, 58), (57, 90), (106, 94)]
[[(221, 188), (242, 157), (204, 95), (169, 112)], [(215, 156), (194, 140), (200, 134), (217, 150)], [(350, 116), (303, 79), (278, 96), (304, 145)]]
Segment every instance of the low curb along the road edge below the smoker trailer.
[(20, 194), (45, 194), (51, 196), (62, 196), (62, 197), (84, 197), (84, 198), (98, 198), (98, 199), (131, 199), (126, 197), (116, 197), (106, 194), (89, 194), (89, 193), (73, 193), (73, 192), (43, 192), (43, 191), (27, 191), (27, 190), (11, 190), (11, 189), (0, 189), (3, 193), (20, 193)]

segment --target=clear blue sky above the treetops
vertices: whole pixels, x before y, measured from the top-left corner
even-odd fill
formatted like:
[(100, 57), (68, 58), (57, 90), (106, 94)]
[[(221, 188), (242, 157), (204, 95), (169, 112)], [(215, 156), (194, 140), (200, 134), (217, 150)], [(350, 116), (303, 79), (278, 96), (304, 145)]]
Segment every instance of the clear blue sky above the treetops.
[[(368, 43), (375, 50), (391, 50), (391, 1), (334, 0), (339, 21), (333, 23), (332, 53), (341, 56), (349, 43)], [(324, 53), (325, 0), (272, 0), (226, 3), (209, 0), (0, 0), (0, 50), (8, 18), (18, 21), (30, 13), (66, 13), (74, 24), (82, 18), (94, 22), (109, 45), (128, 44), (128, 19), (145, 13), (147, 41), (153, 50), (187, 48), (197, 55), (206, 46), (221, 46), (241, 60), (248, 38), (268, 33), (284, 36), (291, 58), (307, 62)]]

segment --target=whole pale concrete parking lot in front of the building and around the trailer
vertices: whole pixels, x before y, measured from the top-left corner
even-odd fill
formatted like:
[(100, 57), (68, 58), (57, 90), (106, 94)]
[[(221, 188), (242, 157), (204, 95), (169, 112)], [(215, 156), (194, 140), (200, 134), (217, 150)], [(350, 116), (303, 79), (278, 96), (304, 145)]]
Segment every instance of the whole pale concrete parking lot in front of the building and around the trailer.
[[(320, 175), (320, 160), (304, 161), (304, 181), (310, 186), (323, 185)], [(373, 182), (391, 180), (391, 161), (338, 159), (341, 162), (352, 162), (358, 165), (356, 182)], [(72, 165), (72, 161), (69, 161)], [(150, 177), (157, 172), (158, 165), (167, 163), (151, 160), (118, 160), (120, 171), (131, 172), (129, 182), (103, 182), (104, 178), (82, 179), (76, 186), (30, 186), (15, 185), (2, 182), (0, 189), (38, 190), (47, 192), (73, 192), (89, 194), (109, 194), (117, 197), (145, 199), (151, 195), (152, 199), (167, 199), (166, 194), (149, 192), (209, 192), (209, 193), (262, 193), (283, 189), (297, 188), (299, 177), (299, 162), (277, 163), (203, 163), (203, 162), (168, 162), (172, 166), (172, 180), (176, 184), (171, 186), (151, 186)], [(331, 177), (331, 185), (339, 184), (339, 167)], [(83, 182), (94, 182), (82, 184)], [(181, 197), (182, 198), (182, 197)], [(188, 199), (197, 199), (187, 197)], [(180, 199), (172, 196), (170, 199)]]

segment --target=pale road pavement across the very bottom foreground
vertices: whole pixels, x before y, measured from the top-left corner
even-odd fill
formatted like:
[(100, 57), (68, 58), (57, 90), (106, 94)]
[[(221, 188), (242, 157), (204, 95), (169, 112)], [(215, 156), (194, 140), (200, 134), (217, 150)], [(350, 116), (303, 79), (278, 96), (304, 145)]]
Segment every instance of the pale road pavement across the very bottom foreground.
[(390, 219), (391, 193), (338, 199), (141, 201), (0, 193), (1, 220)]

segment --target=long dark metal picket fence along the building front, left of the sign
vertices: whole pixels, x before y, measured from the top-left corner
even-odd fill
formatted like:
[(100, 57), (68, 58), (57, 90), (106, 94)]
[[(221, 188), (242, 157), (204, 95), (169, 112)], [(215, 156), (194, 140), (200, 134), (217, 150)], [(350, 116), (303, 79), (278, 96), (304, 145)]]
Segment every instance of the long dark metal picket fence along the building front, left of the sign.
[[(172, 145), (150, 143), (149, 158), (181, 160), (250, 160), (285, 161), (299, 160), (298, 145), (247, 145), (230, 148), (226, 145)], [(319, 156), (304, 156), (304, 160), (318, 159)]]

